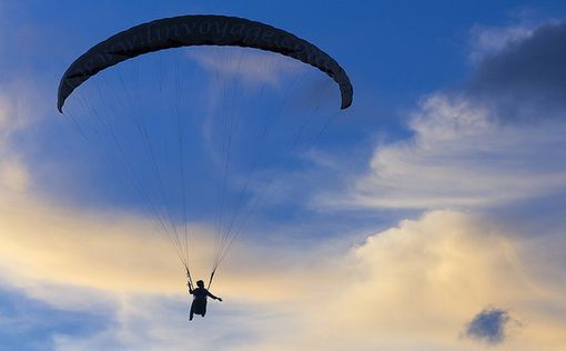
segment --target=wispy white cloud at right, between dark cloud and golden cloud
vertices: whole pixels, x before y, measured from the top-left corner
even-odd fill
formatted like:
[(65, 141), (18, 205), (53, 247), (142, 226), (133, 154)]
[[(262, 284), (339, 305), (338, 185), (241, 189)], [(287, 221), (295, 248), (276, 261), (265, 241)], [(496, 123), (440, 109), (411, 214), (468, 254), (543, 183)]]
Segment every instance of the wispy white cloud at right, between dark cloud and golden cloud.
[(411, 120), (414, 136), (376, 148), (371, 170), (330, 205), (473, 208), (564, 190), (566, 123), (502, 124), (462, 97), (434, 94)]

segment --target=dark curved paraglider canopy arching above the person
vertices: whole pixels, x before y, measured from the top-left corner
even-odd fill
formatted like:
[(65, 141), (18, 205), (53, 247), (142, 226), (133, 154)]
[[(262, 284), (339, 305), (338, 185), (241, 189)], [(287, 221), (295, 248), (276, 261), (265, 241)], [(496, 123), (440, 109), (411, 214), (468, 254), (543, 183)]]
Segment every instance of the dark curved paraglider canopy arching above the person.
[(353, 88), (346, 72), (327, 53), (284, 30), (256, 21), (226, 16), (181, 16), (143, 23), (92, 47), (77, 59), (59, 84), (57, 107), (98, 72), (163, 49), (190, 46), (235, 46), (279, 52), (301, 60), (329, 74), (338, 84), (342, 109), (352, 104)]

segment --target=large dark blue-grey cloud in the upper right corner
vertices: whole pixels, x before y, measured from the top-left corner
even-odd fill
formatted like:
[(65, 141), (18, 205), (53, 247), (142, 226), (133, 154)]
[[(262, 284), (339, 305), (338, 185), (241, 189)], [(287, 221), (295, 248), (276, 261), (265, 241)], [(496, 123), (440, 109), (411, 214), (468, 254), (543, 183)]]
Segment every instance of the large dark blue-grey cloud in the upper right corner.
[(467, 88), (504, 121), (566, 118), (566, 22), (545, 24), (487, 56)]

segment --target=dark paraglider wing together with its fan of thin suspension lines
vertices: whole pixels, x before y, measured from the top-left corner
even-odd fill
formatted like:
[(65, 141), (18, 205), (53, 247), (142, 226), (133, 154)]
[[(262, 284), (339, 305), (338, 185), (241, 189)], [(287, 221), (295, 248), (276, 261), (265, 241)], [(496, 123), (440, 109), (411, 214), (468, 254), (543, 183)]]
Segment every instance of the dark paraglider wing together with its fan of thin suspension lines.
[[(184, 50), (195, 46), (223, 47), (218, 50), (201, 48), (210, 50), (209, 58), (220, 63), (208, 66), (203, 64), (202, 56), (201, 59), (183, 56), (185, 51), (199, 51), (196, 48)], [(173, 50), (175, 48), (181, 50)], [(249, 49), (263, 50), (266, 54)], [(245, 51), (252, 52), (244, 54)], [(156, 54), (146, 54), (153, 52)], [(247, 56), (250, 53), (256, 59), (247, 61), (253, 57)], [(169, 59), (168, 54), (171, 54)], [(269, 60), (273, 57), (292, 63), (292, 69), (282, 74), (282, 81), (295, 79), (293, 84), (285, 84), (284, 89), (271, 80), (249, 84), (242, 78), (244, 74), (232, 77), (221, 72), (233, 64), (241, 74), (245, 72), (245, 69), (241, 70), (242, 64), (249, 64), (253, 66), (250, 71), (254, 78), (257, 72), (257, 76), (261, 72), (270, 76), (275, 72), (270, 73)], [(155, 61), (149, 63), (152, 58)], [(191, 62), (199, 63), (204, 72), (193, 70), (198, 66)], [(193, 217), (191, 201), (199, 202), (198, 210), (193, 209), (195, 213), (202, 211), (205, 218), (211, 218), (215, 212), (216, 240), (209, 289), (216, 269), (249, 218), (274, 197), (273, 180), (281, 157), (293, 153), (300, 147), (301, 138), (306, 144), (319, 140), (332, 121), (329, 116), (323, 116), (320, 130), (313, 128), (321, 104), (330, 101), (333, 116), (342, 113), (335, 109), (334, 97), (324, 99), (326, 84), (332, 90), (334, 82), (314, 69), (296, 74), (309, 68), (301, 62), (326, 73), (337, 83), (342, 110), (352, 104), (350, 79), (327, 53), (284, 30), (226, 16), (181, 16), (135, 26), (89, 49), (61, 78), (58, 110), (62, 113), (64, 106), (65, 114), (84, 139), (95, 140), (97, 148), (107, 151), (101, 151), (103, 158), (109, 159), (104, 160), (104, 170), (114, 163), (122, 166), (114, 176), (138, 193), (139, 203), (132, 209), (148, 213), (155, 231), (171, 241), (186, 271), (189, 287), (192, 287), (189, 264), (192, 230), (188, 225)], [(287, 66), (281, 64), (280, 69), (284, 67)], [(305, 89), (309, 86), (302, 81), (303, 76), (310, 72), (319, 76), (317, 79), (323, 78), (324, 87)], [(208, 82), (209, 89), (201, 89), (200, 79)], [(300, 81), (303, 83), (299, 84)], [(68, 99), (75, 89), (74, 98)], [(305, 91), (313, 93), (303, 96)], [(199, 101), (199, 93), (206, 99)], [(299, 102), (289, 106), (293, 93)], [(303, 103), (301, 99), (309, 101)], [(300, 109), (294, 109), (296, 107)], [(321, 111), (324, 113), (324, 108)], [(285, 112), (295, 118), (279, 118)], [(256, 119), (257, 114), (265, 118)], [(83, 118), (75, 119), (74, 116)], [(194, 128), (196, 121), (202, 122), (202, 132)], [(281, 123), (274, 126), (275, 122)], [(202, 147), (199, 141), (203, 142)], [(272, 152), (277, 150), (275, 147), (282, 151), (280, 158)], [(202, 158), (201, 153), (204, 154)], [(204, 181), (191, 182), (199, 178)], [(188, 195), (191, 194), (190, 187), (192, 197)], [(214, 192), (218, 204), (206, 210)], [(199, 285), (204, 289), (203, 282)]]

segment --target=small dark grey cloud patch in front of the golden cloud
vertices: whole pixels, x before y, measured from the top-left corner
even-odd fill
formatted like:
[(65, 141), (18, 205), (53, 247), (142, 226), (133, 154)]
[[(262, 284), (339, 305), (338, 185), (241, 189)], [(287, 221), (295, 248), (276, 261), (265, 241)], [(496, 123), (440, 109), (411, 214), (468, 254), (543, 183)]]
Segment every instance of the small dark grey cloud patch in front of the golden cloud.
[(505, 332), (509, 313), (497, 308), (485, 309), (477, 313), (466, 325), (466, 337), (488, 344), (498, 344), (505, 341)]

